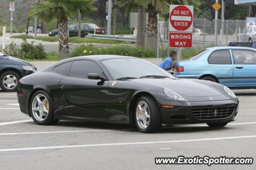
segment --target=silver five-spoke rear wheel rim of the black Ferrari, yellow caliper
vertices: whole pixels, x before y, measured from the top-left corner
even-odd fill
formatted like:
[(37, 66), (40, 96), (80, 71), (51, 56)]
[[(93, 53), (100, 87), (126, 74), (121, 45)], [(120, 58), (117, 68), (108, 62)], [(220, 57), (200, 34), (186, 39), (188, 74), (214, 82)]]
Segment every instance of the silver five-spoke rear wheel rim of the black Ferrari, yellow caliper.
[(38, 121), (44, 121), (49, 113), (49, 102), (43, 94), (35, 96), (32, 102), (32, 114)]

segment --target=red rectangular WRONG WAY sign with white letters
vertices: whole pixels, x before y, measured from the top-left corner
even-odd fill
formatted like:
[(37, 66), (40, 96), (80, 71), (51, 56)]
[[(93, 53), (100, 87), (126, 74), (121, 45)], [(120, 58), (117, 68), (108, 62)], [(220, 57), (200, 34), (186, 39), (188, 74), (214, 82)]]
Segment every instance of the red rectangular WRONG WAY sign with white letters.
[(169, 47), (192, 48), (192, 33), (169, 33)]

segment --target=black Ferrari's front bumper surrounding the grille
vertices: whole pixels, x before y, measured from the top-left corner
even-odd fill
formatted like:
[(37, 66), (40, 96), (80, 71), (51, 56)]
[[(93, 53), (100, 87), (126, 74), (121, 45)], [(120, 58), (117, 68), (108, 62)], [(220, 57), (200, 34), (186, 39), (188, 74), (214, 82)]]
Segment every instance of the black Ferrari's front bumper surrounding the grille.
[[(194, 123), (217, 123), (234, 121), (238, 112), (238, 100), (218, 100), (203, 102), (171, 102), (159, 101), (164, 124), (194, 124)], [(173, 108), (162, 108), (162, 106), (174, 106)], [(225, 118), (198, 119), (193, 113), (194, 108), (212, 107), (234, 107), (232, 114)]]

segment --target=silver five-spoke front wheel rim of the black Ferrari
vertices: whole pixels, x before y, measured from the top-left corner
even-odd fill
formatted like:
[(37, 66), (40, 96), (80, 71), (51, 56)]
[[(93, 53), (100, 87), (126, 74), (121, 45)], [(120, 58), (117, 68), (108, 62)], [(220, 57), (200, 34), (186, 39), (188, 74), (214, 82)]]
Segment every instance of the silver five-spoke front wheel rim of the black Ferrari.
[(136, 108), (136, 120), (141, 129), (146, 129), (150, 120), (148, 104), (144, 101), (138, 103)]

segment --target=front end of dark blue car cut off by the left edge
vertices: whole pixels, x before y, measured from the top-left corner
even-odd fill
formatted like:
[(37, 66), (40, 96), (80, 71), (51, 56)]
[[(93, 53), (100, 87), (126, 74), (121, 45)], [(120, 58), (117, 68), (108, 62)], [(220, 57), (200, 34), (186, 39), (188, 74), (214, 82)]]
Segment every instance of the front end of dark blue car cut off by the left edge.
[(15, 92), (20, 78), (34, 72), (33, 64), (0, 52), (0, 87), (3, 91)]

